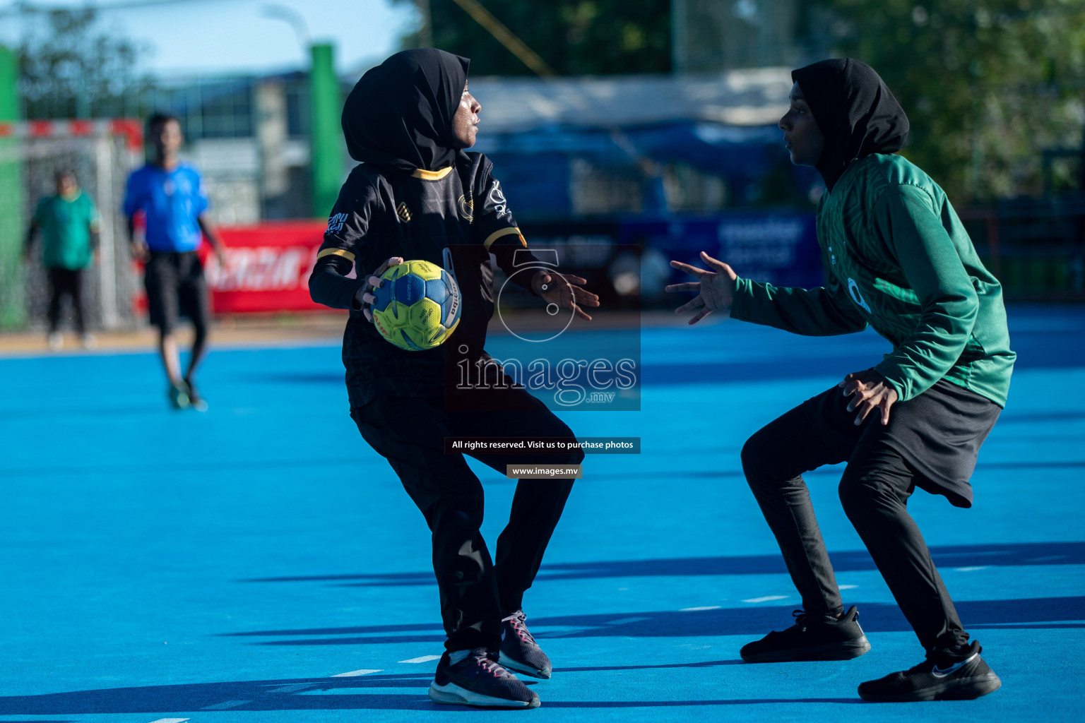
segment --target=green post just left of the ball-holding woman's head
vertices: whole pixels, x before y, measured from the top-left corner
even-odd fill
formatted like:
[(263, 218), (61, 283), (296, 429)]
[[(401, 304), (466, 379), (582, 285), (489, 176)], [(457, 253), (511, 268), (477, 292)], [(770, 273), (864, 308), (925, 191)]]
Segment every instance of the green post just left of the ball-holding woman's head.
[(340, 115), (343, 99), (335, 77), (331, 44), (315, 44), (309, 93), (312, 96), (312, 215), (330, 216), (343, 182), (343, 153), (340, 150)]

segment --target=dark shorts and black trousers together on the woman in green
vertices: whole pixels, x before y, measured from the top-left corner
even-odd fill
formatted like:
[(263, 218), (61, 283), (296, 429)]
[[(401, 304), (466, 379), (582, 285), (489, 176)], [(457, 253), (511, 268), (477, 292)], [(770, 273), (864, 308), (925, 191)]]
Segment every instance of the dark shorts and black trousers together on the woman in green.
[[(847, 462), (840, 501), (924, 649), (968, 641), (907, 502), (917, 487), (971, 504), (968, 478), (999, 408), (946, 380), (856, 426), (833, 387), (754, 434), (742, 468), (813, 617), (844, 611), (802, 473)], [(937, 470), (937, 472), (935, 472)]]

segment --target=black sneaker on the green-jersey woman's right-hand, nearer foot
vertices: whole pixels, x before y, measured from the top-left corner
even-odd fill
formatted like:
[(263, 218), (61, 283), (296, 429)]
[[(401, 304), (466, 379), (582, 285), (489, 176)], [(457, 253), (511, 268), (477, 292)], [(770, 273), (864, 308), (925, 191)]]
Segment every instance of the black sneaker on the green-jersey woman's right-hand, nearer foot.
[(994, 693), (1003, 682), (980, 657), (982, 649), (972, 641), (972, 645), (956, 655), (944, 649), (928, 654), (914, 668), (859, 684), (859, 697), (876, 702), (905, 702), (972, 700)]

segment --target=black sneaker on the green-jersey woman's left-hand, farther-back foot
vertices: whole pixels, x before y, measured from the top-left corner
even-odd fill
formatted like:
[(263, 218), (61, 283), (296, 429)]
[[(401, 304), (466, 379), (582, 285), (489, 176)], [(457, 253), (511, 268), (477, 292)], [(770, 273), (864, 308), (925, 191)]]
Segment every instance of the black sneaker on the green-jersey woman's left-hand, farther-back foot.
[(799, 660), (851, 660), (870, 649), (859, 628), (859, 611), (853, 605), (840, 620), (810, 620), (802, 610), (792, 612), (795, 624), (773, 631), (742, 646), (746, 662), (794, 662)]

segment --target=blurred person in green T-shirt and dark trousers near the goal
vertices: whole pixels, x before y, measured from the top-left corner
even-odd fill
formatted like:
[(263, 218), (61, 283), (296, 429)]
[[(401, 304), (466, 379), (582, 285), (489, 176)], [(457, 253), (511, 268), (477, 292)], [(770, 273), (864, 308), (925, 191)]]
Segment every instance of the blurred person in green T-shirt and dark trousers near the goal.
[(75, 171), (56, 172), (56, 193), (38, 202), (26, 233), (26, 260), (34, 254), (38, 231), (42, 235), (41, 260), (49, 274), (49, 348), (56, 351), (64, 345), (59, 331), (61, 299), (68, 296), (75, 312), (75, 327), (86, 349), (98, 340), (87, 333), (86, 309), (82, 302), (82, 271), (98, 261), (98, 235), (101, 218), (89, 195), (79, 189)]

